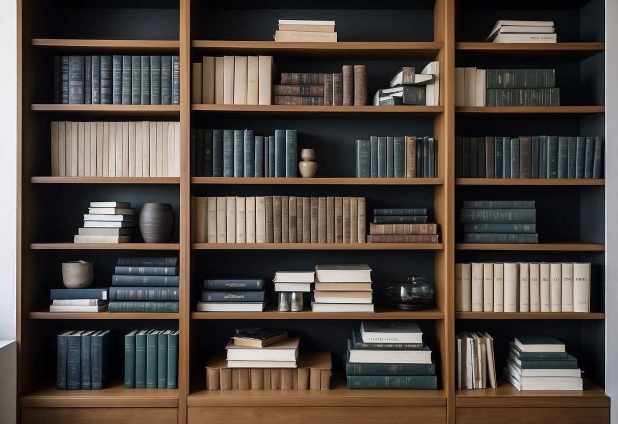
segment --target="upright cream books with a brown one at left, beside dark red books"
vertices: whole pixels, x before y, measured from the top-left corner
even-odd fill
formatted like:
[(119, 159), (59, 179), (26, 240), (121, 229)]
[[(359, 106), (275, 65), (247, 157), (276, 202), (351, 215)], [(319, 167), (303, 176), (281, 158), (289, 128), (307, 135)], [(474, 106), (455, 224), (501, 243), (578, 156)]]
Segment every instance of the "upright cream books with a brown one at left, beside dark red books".
[(193, 104), (271, 104), (273, 56), (203, 56), (192, 64)]

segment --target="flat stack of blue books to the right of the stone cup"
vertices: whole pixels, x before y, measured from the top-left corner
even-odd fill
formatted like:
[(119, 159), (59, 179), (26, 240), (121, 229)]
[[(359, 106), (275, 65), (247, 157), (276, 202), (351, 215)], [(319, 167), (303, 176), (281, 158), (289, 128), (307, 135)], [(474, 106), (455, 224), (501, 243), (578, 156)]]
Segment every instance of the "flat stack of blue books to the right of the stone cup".
[(119, 257), (109, 312), (178, 312), (178, 257)]

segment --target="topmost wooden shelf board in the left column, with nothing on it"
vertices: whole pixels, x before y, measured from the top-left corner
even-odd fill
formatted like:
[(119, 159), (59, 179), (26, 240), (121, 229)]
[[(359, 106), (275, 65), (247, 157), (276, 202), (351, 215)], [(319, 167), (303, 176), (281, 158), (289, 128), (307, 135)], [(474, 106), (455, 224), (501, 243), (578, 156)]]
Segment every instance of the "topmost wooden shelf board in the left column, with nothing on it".
[(33, 38), (33, 46), (62, 48), (63, 54), (67, 51), (91, 51), (93, 48), (103, 51), (156, 51), (178, 54), (180, 41), (178, 40), (95, 40), (78, 38)]

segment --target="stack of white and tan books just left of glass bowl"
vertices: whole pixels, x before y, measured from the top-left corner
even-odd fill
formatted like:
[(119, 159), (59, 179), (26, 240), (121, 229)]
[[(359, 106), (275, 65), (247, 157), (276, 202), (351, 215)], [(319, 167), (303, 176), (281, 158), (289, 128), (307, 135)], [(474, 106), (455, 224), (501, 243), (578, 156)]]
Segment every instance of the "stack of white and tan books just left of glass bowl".
[(373, 312), (368, 265), (316, 265), (315, 279), (313, 312)]

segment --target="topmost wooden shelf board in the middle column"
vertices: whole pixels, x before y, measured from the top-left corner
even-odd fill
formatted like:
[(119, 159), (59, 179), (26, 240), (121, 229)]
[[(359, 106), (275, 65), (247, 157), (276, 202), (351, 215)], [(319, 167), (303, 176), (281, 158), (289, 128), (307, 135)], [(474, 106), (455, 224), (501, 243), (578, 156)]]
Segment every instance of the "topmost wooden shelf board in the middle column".
[[(444, 43), (438, 41), (338, 41), (337, 43), (295, 43), (276, 41), (194, 40), (194, 49), (213, 54), (265, 54), (276, 57), (320, 59), (434, 59)], [(201, 52), (200, 52), (201, 53)]]

